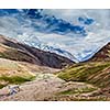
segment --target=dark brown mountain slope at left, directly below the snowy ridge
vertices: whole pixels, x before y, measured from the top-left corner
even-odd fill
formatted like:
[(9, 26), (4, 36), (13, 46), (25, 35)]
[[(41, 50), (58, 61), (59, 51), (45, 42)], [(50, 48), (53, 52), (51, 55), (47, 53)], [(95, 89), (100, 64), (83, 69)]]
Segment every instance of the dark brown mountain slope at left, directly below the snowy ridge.
[(0, 57), (53, 68), (63, 68), (74, 64), (74, 62), (64, 56), (21, 44), (2, 35), (0, 35)]

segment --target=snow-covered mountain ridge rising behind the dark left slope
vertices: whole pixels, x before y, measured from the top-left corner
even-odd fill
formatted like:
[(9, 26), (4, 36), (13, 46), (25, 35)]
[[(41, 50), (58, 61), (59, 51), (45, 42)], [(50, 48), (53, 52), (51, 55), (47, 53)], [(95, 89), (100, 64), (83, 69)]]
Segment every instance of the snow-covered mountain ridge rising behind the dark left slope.
[(21, 43), (28, 44), (30, 46), (46, 51), (46, 52), (51, 52), (51, 53), (56, 53), (61, 56), (65, 56), (69, 59), (72, 59), (75, 63), (78, 63), (78, 59), (76, 59), (74, 57), (74, 55), (72, 55), (69, 52), (65, 51), (65, 50), (61, 50), (61, 48), (55, 48), (53, 46), (48, 46), (47, 44), (43, 44), (41, 41), (38, 41), (38, 38), (34, 35), (28, 36), (25, 35), (24, 38), (22, 38), (23, 36), (19, 36), (18, 41), (20, 41)]

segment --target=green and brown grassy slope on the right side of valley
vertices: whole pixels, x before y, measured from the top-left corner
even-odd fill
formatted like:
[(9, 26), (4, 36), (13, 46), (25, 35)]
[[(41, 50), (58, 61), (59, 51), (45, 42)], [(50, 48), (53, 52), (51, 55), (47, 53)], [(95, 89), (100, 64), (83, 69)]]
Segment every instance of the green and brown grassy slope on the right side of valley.
[(103, 88), (110, 86), (110, 70), (103, 73), (108, 67), (109, 62), (80, 63), (56, 74), (66, 81), (89, 82)]

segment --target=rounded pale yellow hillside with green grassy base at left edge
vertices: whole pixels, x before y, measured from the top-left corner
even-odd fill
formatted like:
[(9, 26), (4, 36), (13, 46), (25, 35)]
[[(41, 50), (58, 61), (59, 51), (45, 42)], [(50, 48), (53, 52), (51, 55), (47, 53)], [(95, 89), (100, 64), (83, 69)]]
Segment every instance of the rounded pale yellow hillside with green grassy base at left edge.
[(0, 88), (31, 81), (34, 77), (34, 73), (20, 63), (0, 58)]

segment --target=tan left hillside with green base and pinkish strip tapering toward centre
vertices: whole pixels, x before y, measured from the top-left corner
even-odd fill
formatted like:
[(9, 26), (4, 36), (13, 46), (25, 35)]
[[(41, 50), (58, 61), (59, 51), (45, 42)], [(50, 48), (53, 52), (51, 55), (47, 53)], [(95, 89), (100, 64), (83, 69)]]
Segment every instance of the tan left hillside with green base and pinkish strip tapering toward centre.
[(34, 80), (37, 73), (55, 73), (57, 70), (46, 66), (0, 58), (0, 88)]

